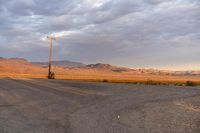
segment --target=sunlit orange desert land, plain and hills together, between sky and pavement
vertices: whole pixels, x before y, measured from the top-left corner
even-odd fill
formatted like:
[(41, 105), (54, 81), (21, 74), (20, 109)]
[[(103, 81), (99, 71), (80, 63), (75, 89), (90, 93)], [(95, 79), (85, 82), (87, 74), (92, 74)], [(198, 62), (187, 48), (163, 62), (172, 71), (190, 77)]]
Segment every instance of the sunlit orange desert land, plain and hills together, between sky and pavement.
[[(175, 84), (192, 81), (200, 85), (200, 71), (164, 71), (156, 69), (130, 69), (109, 64), (82, 66), (52, 65), (55, 78), (61, 80), (84, 80), (100, 82)], [(48, 64), (31, 63), (21, 58), (0, 58), (0, 77), (47, 78)]]

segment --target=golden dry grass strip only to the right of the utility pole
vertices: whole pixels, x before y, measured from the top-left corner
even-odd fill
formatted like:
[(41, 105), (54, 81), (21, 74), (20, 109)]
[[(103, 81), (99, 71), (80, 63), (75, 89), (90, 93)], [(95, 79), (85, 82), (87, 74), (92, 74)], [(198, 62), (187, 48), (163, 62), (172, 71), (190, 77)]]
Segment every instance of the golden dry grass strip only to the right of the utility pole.
[(64, 80), (84, 80), (100, 82), (120, 82), (120, 83), (142, 83), (142, 84), (176, 84), (182, 85), (187, 81), (194, 84), (200, 84), (200, 77), (196, 76), (163, 76), (163, 75), (130, 75), (130, 76), (112, 76), (112, 75), (57, 75), (56, 79)]

